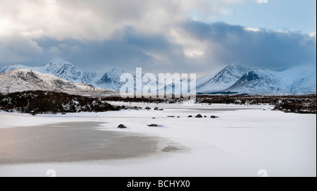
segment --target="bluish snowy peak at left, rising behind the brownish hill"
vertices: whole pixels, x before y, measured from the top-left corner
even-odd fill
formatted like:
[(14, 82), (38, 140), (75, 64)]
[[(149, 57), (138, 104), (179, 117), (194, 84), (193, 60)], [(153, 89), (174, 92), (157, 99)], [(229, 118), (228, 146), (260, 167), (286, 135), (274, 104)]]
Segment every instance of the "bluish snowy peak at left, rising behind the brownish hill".
[(5, 66), (4, 68), (0, 68), (0, 73), (17, 69), (30, 69), (39, 73), (55, 75), (58, 78), (63, 78), (70, 82), (96, 85), (91, 78), (91, 73), (82, 72), (67, 61), (56, 60), (40, 67), (27, 67), (23, 65)]

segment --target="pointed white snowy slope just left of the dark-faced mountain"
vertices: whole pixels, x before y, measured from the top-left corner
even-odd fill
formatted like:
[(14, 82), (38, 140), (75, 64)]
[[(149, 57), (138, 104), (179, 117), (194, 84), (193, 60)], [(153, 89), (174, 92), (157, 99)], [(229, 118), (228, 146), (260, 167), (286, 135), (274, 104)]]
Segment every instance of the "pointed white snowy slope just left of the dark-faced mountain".
[(219, 92), (225, 90), (234, 85), (247, 71), (249, 71), (247, 68), (229, 65), (213, 77), (210, 74), (204, 75), (197, 80), (197, 92)]

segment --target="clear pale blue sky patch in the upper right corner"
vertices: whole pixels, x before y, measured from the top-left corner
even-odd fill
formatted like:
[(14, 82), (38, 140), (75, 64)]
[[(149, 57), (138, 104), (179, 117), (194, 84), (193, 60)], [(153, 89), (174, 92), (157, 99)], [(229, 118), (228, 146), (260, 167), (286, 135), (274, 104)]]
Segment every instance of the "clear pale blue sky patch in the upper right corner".
[[(262, 1), (262, 0), (259, 0)], [(271, 30), (316, 32), (315, 0), (246, 0), (240, 4), (227, 4), (218, 14), (201, 16), (199, 11), (189, 13), (193, 20), (206, 23), (222, 21), (231, 25), (251, 28), (265, 27)], [(221, 11), (222, 10), (222, 11)]]

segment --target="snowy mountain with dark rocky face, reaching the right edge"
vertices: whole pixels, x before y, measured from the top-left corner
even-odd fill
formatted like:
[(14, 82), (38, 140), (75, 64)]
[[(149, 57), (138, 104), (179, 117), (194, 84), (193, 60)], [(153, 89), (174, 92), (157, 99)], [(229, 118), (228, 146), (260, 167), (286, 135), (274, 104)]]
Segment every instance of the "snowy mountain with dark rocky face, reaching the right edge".
[(282, 71), (251, 70), (225, 91), (247, 94), (316, 93), (316, 66), (302, 64)]

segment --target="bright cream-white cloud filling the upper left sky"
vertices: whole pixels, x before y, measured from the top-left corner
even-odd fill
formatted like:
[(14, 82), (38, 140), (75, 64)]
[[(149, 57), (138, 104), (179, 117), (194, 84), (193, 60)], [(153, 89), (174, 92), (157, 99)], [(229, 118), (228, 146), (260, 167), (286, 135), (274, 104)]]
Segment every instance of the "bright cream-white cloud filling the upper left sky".
[[(56, 1), (15, 0), (1, 2), (0, 30), (30, 38), (104, 40), (118, 38), (126, 26), (142, 32), (164, 33), (197, 10), (204, 16), (229, 13), (223, 5), (241, 0), (117, 0)], [(6, 25), (4, 25), (6, 20)]]

